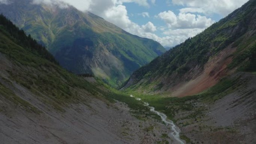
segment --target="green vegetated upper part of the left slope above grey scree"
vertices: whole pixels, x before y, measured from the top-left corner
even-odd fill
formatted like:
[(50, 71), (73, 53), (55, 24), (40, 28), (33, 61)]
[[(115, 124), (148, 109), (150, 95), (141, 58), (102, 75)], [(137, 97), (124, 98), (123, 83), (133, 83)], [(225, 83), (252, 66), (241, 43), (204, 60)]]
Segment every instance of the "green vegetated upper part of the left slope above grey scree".
[(0, 55), (1, 96), (21, 107), (37, 109), (7, 87), (21, 85), (58, 110), (80, 100), (76, 88), (84, 89), (89, 95), (100, 92), (97, 83), (93, 85), (61, 68), (44, 47), (30, 36), (27, 37), (23, 30), (19, 30), (3, 15), (0, 15)]

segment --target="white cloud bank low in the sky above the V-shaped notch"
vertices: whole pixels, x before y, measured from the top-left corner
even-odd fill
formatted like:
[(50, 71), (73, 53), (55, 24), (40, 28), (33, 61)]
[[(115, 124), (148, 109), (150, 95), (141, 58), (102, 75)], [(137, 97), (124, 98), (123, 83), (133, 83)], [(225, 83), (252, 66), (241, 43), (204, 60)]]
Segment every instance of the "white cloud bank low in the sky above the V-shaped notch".
[[(159, 30), (165, 35), (157, 39), (163, 46), (175, 46), (184, 42), (189, 37), (201, 33), (209, 27), (214, 21), (206, 16), (186, 13), (192, 10), (180, 10), (176, 15), (171, 10), (159, 13), (156, 17), (166, 23), (166, 27), (159, 27)], [(193, 10), (198, 11), (198, 10)]]

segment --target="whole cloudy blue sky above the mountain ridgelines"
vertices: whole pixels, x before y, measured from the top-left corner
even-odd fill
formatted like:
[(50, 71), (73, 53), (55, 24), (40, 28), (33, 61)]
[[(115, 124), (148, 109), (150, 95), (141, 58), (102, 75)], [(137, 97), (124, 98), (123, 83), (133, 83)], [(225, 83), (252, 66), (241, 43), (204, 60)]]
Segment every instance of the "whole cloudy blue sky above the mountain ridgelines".
[[(0, 0), (8, 3), (11, 0)], [(248, 0), (33, 0), (72, 5), (129, 33), (175, 46), (205, 30)]]

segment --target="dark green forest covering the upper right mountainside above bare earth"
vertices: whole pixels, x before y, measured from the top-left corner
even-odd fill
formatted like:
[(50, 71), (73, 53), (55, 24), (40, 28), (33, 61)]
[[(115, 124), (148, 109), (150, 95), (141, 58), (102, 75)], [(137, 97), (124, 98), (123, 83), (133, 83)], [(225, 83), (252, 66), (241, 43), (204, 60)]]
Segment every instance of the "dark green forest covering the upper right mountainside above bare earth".
[(133, 73), (132, 78), (138, 82), (143, 78), (168, 76), (173, 73), (183, 76), (197, 65), (202, 68), (211, 56), (229, 45), (233, 48), (239, 47), (239, 50), (234, 53), (233, 62), (228, 68), (239, 67), (240, 71), (255, 71), (256, 49), (248, 45), (255, 43), (256, 37), (244, 36), (249, 30), (255, 30), (255, 4), (256, 1), (249, 1), (202, 33), (187, 39), (141, 67)]

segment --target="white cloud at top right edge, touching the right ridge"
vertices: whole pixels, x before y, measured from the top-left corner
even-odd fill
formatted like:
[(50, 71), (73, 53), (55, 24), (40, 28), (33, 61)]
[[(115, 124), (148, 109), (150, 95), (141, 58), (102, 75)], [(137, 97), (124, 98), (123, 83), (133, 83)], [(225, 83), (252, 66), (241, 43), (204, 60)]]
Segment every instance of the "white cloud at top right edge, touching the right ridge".
[(247, 1), (249, 0), (172, 0), (172, 3), (187, 6), (186, 12), (201, 9), (200, 12), (205, 14), (218, 13), (226, 16)]

